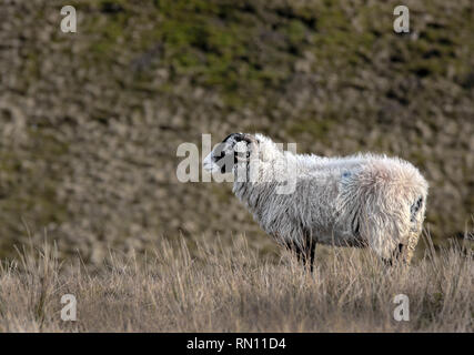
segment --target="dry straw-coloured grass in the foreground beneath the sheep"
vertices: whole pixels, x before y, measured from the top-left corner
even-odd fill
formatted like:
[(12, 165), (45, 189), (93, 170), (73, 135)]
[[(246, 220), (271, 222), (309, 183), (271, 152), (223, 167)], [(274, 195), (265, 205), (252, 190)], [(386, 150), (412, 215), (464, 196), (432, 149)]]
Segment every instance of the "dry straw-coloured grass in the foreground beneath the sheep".
[[(320, 253), (313, 274), (283, 252), (262, 260), (244, 237), (232, 246), (161, 241), (154, 255), (111, 252), (97, 270), (54, 248), (27, 247), (0, 268), (0, 332), (473, 332), (473, 253), (428, 250), (410, 268), (365, 251)], [(78, 321), (63, 322), (63, 294)], [(396, 294), (410, 322), (393, 318)]]

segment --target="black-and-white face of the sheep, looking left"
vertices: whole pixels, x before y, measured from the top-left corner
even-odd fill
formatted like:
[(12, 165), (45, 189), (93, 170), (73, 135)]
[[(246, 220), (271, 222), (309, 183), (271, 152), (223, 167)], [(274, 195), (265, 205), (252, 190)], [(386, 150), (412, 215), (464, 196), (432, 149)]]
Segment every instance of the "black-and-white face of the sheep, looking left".
[(251, 136), (243, 133), (228, 135), (205, 156), (203, 166), (209, 172), (232, 173), (239, 161), (250, 158)]

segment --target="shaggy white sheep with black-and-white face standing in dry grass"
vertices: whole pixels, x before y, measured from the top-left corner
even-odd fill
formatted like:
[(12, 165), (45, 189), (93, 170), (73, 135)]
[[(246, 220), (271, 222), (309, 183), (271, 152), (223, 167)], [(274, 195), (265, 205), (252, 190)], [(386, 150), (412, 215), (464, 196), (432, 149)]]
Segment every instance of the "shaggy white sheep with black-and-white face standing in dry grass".
[[(387, 264), (410, 264), (413, 257), (428, 184), (402, 159), (295, 154), (262, 134), (232, 133), (203, 160), (203, 168), (233, 173), (235, 196), (311, 270), (317, 243), (370, 247)], [(282, 176), (295, 178), (292, 193), (278, 193)]]

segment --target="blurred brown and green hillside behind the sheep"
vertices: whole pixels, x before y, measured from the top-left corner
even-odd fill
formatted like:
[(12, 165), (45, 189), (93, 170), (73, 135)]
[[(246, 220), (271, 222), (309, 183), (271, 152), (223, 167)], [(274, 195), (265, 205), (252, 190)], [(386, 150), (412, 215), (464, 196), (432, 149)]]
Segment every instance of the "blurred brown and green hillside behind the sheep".
[[(474, 213), (474, 3), (0, 2), (0, 256), (219, 232), (273, 244), (229, 184), (179, 183), (182, 142), (263, 132), (325, 155), (400, 155), (430, 184), (436, 242)], [(78, 33), (60, 31), (72, 4)]]

